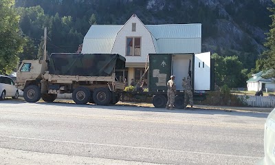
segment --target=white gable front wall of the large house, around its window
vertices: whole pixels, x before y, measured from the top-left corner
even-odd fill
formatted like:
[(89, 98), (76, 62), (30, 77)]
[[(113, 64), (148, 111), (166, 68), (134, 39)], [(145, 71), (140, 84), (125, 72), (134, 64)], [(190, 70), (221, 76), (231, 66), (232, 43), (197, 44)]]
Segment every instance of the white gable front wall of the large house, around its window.
[[(136, 32), (132, 32), (132, 23), (136, 23)], [(141, 56), (126, 56), (126, 37), (141, 37)], [(116, 36), (113, 54), (120, 54), (126, 58), (126, 63), (145, 63), (148, 54), (155, 54), (155, 47), (151, 33), (137, 17), (131, 17)]]

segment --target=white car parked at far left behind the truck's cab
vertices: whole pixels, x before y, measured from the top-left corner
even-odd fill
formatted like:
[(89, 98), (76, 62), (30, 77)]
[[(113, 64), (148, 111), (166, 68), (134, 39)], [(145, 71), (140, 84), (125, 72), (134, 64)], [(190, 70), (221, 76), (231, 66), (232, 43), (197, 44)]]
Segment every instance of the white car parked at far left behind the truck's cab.
[(19, 91), (14, 86), (14, 81), (8, 76), (0, 75), (0, 100), (4, 100), (6, 97), (12, 97), (17, 99)]

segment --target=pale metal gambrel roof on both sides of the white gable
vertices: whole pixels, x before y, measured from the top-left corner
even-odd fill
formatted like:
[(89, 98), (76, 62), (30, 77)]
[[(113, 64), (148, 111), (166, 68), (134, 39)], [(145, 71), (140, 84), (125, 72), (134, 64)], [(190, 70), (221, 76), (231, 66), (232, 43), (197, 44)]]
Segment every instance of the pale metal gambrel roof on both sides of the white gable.
[[(83, 53), (111, 53), (115, 38), (123, 26), (91, 25), (83, 40)], [(151, 33), (158, 54), (201, 52), (201, 23), (144, 26)]]

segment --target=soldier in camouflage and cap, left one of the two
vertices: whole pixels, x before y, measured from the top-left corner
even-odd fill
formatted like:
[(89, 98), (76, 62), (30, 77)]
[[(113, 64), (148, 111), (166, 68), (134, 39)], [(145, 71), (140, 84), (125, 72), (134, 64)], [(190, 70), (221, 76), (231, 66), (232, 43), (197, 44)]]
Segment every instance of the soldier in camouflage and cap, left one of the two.
[(175, 102), (175, 92), (176, 92), (176, 84), (175, 84), (175, 76), (172, 75), (170, 76), (170, 80), (167, 82), (167, 104), (166, 104), (166, 109), (169, 109), (169, 104), (170, 104), (170, 109), (174, 109), (174, 102)]

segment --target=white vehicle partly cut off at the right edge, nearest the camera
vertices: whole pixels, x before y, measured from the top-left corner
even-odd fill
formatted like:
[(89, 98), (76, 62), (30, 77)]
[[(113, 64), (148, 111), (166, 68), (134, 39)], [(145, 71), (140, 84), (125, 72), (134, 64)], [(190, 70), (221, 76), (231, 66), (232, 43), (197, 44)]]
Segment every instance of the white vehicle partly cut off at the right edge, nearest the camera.
[(275, 109), (265, 122), (265, 157), (257, 165), (275, 165)]

